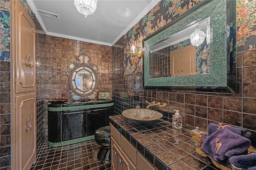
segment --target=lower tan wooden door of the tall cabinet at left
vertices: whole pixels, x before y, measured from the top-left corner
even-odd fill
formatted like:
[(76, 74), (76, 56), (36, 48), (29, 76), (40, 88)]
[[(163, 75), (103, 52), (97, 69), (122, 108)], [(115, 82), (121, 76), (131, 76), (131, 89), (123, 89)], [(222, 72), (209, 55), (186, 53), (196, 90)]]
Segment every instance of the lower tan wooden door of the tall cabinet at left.
[(36, 160), (36, 94), (16, 97), (16, 168), (29, 170)]

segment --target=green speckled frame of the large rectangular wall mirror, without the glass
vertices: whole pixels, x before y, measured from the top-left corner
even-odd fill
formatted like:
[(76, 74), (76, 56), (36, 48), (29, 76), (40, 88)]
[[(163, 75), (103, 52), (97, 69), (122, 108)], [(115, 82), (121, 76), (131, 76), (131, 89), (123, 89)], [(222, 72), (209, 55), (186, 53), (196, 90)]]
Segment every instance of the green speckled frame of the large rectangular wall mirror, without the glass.
[[(166, 25), (166, 27), (161, 28), (143, 40), (144, 88), (197, 92), (236, 92), (236, 68), (233, 68), (236, 65), (236, 36), (230, 35), (232, 40), (228, 41), (230, 38), (227, 37), (226, 34), (226, 25), (229, 23), (228, 20), (230, 19), (229, 15), (232, 15), (232, 10), (235, 10), (234, 7), (232, 7), (232, 9), (227, 8), (227, 4), (234, 4), (232, 4), (232, 1), (229, 2), (226, 0), (203, 1), (201, 3), (198, 4), (197, 7), (194, 7), (193, 10), (173, 20), (170, 25)], [(228, 12), (231, 14), (227, 15)], [(210, 52), (211, 73), (179, 77), (149, 78), (150, 46), (209, 16), (213, 36)], [(233, 18), (233, 21), (235, 22), (235, 18)], [(233, 27), (233, 32), (236, 33), (236, 23), (233, 23), (231, 20), (229, 24), (230, 27)], [(232, 56), (230, 56), (230, 50), (232, 50)]]

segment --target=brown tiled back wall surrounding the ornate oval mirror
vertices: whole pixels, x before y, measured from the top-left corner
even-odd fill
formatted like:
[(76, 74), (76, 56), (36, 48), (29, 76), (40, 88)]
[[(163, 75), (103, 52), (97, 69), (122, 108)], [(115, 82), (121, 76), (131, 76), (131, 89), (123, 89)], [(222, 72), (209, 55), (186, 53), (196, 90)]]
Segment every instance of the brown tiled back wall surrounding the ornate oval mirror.
[(69, 98), (68, 64), (76, 61), (80, 49), (89, 52), (92, 63), (100, 69), (98, 92), (112, 89), (112, 47), (78, 40), (36, 34), (37, 96), (44, 98)]

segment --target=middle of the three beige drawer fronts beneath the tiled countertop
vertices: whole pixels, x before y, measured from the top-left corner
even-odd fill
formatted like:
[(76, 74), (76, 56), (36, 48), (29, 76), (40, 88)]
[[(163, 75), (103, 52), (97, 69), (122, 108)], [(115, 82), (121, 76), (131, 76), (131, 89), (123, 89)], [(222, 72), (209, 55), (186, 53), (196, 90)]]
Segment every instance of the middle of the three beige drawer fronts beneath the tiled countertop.
[(136, 165), (136, 149), (122, 135), (121, 135), (121, 139), (120, 139), (120, 146), (121, 146), (122, 150), (124, 150), (126, 155), (130, 158), (130, 160), (132, 160), (132, 162)]

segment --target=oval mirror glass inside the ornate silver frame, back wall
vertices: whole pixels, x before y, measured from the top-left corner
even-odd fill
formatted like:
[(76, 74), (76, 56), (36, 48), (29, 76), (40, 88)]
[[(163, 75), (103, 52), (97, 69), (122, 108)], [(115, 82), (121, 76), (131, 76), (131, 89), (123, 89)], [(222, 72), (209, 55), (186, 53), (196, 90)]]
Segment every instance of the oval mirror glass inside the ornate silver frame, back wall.
[(92, 74), (88, 70), (80, 70), (76, 73), (76, 88), (88, 91), (92, 87)]

